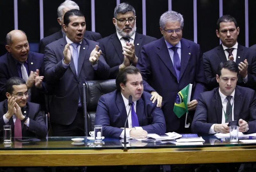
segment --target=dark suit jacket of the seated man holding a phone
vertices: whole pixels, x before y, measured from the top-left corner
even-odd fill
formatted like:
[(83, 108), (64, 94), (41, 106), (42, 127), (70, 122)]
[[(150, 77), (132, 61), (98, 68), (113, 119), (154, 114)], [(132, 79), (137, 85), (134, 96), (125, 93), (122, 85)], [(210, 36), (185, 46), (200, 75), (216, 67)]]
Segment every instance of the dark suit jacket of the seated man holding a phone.
[[(255, 91), (236, 86), (234, 96), (234, 120), (249, 121), (249, 130), (245, 134), (256, 132)], [(221, 124), (222, 103), (219, 87), (206, 91), (199, 96), (196, 113), (191, 129), (194, 133), (208, 134), (213, 124)]]

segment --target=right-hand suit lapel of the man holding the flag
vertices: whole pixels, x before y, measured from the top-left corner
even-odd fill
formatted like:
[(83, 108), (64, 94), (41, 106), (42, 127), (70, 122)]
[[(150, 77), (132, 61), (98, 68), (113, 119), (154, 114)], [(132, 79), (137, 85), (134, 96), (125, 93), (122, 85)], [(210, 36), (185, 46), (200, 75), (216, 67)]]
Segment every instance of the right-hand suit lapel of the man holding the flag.
[(180, 78), (186, 70), (190, 56), (191, 51), (189, 50), (189, 45), (184, 41), (184, 39), (181, 39)]

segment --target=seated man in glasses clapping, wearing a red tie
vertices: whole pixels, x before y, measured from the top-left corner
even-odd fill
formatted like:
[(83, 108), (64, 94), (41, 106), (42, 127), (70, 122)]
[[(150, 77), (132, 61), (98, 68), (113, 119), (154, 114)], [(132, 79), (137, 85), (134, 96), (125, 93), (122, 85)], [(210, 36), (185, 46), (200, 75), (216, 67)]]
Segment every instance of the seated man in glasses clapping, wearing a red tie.
[(28, 102), (26, 81), (12, 77), (5, 84), (6, 97), (0, 102), (0, 135), (3, 126), (12, 126), (12, 137), (46, 137), (47, 128), (40, 105)]

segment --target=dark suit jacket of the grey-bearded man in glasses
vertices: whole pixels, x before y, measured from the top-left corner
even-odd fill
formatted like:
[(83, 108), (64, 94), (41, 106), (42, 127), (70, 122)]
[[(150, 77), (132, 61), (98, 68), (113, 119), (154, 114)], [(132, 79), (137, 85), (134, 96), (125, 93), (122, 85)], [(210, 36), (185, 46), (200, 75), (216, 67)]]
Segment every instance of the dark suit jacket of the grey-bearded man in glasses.
[[(138, 34), (136, 32), (133, 42), (136, 56), (140, 58), (141, 47), (155, 40), (156, 38), (154, 37)], [(122, 54), (124, 51), (122, 50), (122, 44), (120, 43), (116, 33), (102, 38), (98, 40), (98, 42), (100, 43), (102, 55), (110, 66), (109, 79), (116, 79), (119, 72), (119, 65), (124, 62), (124, 55)]]

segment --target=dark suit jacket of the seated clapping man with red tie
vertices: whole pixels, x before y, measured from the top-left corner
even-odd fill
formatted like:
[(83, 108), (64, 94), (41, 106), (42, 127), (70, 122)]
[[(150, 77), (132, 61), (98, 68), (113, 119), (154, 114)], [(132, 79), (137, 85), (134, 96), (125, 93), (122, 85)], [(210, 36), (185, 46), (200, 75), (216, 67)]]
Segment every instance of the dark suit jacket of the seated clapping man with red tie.
[[(12, 133), (14, 133), (14, 123), (12, 117), (9, 119), (8, 124), (4, 123), (4, 114), (8, 111), (7, 99), (0, 102), (0, 126), (11, 125)], [(22, 137), (46, 137), (47, 128), (43, 118), (43, 113), (40, 111), (40, 105), (36, 103), (27, 102), (27, 105), (21, 108), (24, 116), (29, 118), (29, 127), (21, 122)], [(0, 135), (3, 136), (3, 127), (0, 128)], [(14, 137), (14, 135), (12, 135)]]

